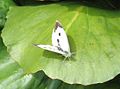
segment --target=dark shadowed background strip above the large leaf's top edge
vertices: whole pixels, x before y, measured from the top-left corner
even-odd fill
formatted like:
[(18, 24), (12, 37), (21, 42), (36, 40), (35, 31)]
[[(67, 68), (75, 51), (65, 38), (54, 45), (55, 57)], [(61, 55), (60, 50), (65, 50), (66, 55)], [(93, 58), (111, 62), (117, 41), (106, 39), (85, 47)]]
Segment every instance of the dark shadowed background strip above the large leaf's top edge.
[(93, 6), (97, 8), (103, 9), (120, 9), (120, 1), (119, 0), (14, 0), (18, 5), (41, 5), (48, 3), (56, 3), (56, 2), (77, 2), (78, 4), (84, 4), (87, 6)]

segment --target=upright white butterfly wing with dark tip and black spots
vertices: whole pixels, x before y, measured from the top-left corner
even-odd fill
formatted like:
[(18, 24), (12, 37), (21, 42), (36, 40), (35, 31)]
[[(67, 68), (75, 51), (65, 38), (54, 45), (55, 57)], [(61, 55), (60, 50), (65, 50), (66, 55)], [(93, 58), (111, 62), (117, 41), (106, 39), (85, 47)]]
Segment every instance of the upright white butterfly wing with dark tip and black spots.
[(53, 29), (52, 45), (60, 47), (64, 51), (70, 52), (67, 35), (58, 21), (56, 21), (55, 28)]

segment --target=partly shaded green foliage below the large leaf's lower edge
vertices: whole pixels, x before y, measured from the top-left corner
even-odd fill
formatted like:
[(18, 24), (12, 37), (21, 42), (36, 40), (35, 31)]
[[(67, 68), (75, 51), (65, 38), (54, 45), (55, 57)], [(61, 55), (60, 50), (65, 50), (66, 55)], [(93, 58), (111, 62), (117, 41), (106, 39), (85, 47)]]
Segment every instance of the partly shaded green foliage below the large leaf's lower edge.
[(45, 76), (43, 72), (24, 75), (24, 71), (7, 53), (0, 38), (0, 89), (119, 89), (118, 79), (86, 87), (52, 80)]

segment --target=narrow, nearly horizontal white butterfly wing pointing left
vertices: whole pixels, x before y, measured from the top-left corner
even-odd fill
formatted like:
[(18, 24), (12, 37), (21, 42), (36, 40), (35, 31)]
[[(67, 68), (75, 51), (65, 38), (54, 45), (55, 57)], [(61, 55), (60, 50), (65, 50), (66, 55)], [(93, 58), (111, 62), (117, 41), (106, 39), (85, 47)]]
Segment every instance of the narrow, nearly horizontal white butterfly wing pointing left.
[(34, 45), (39, 48), (51, 51), (51, 52), (56, 52), (56, 53), (65, 55), (65, 53), (62, 51), (62, 49), (60, 49), (59, 47), (55, 47), (55, 46), (51, 46), (51, 45), (40, 45), (40, 44), (38, 44), (38, 45), (34, 44)]

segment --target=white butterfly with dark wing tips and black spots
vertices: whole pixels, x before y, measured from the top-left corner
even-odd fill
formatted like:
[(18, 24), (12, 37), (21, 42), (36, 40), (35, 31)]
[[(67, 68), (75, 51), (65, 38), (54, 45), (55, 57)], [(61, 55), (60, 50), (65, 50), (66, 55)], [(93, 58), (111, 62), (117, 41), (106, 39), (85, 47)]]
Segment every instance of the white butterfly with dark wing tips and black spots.
[(56, 21), (55, 28), (52, 32), (52, 46), (34, 44), (42, 49), (62, 54), (65, 58), (71, 57), (70, 46), (68, 43), (67, 35), (59, 21)]

